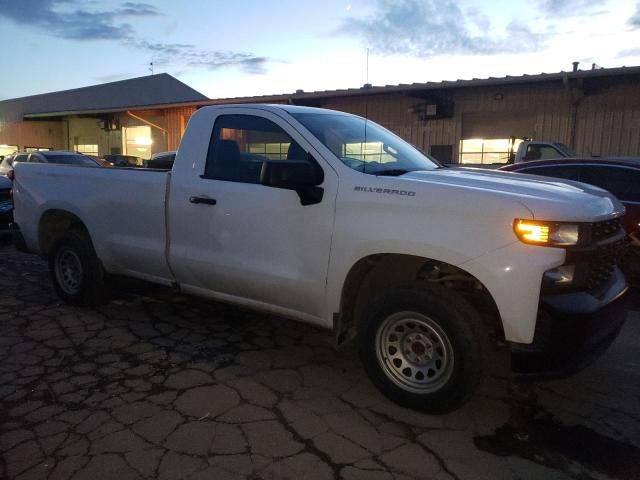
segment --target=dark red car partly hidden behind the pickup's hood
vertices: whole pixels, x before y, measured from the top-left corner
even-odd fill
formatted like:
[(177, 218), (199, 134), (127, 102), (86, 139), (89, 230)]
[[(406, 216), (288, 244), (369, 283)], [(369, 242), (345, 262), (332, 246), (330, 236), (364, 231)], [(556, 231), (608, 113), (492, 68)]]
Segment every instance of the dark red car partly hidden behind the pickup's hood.
[(507, 165), (499, 170), (589, 183), (613, 193), (624, 204), (627, 234), (640, 238), (640, 159), (561, 158)]

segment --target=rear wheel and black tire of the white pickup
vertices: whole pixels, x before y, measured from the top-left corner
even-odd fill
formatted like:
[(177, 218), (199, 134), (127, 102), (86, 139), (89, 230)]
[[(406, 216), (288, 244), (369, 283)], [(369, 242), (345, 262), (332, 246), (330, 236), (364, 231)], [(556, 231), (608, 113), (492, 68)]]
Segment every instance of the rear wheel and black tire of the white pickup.
[(102, 265), (83, 231), (70, 230), (56, 240), (49, 255), (49, 274), (66, 303), (91, 307), (108, 299)]

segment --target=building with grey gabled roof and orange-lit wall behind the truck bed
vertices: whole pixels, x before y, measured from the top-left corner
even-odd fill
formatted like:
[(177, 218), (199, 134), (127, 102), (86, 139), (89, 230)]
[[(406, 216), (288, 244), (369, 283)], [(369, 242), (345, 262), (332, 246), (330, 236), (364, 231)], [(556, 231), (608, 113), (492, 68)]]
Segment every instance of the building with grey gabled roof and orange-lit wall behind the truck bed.
[(75, 150), (149, 158), (177, 148), (194, 102), (207, 97), (167, 74), (0, 102), (0, 155)]

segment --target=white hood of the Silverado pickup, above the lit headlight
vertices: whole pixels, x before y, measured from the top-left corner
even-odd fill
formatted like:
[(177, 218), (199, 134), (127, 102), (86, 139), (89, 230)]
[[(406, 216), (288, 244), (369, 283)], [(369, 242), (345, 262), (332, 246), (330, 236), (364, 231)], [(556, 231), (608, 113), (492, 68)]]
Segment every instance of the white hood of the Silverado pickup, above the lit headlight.
[(593, 222), (624, 214), (624, 206), (606, 190), (571, 180), (474, 168), (416, 171), (398, 179), (416, 187), (438, 184), (518, 200), (540, 220)]

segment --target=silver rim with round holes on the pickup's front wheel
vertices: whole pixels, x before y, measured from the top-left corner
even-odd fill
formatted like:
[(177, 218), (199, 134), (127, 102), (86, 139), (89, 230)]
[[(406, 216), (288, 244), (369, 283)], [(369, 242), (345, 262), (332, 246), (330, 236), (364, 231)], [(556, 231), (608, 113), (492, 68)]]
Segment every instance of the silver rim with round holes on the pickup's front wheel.
[(453, 373), (453, 347), (447, 334), (417, 312), (394, 313), (382, 322), (376, 356), (385, 375), (413, 393), (435, 392)]

